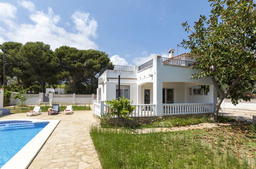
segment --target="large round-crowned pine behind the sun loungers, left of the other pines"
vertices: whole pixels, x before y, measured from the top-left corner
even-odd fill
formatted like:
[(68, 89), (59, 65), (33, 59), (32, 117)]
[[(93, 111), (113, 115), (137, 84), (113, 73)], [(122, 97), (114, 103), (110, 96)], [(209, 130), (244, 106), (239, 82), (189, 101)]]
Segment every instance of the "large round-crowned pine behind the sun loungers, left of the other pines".
[[(59, 59), (54, 56), (50, 45), (43, 42), (28, 42), (21, 47), (18, 59), (22, 61), (23, 83), (38, 81), (41, 92), (45, 93), (46, 83), (58, 83), (57, 71)], [(25, 87), (28, 87), (25, 85)]]

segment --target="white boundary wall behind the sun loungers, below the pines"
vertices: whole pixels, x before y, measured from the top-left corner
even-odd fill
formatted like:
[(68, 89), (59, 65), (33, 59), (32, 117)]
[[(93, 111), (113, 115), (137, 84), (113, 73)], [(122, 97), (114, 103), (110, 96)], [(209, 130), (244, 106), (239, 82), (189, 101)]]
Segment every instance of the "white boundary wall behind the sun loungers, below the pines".
[[(17, 105), (19, 99), (14, 98), (14, 94), (11, 94), (10, 105)], [(93, 104), (93, 100), (97, 98), (97, 95), (82, 95), (82, 94), (25, 94), (27, 100), (26, 105), (37, 104)], [(47, 99), (45, 99), (47, 97)]]

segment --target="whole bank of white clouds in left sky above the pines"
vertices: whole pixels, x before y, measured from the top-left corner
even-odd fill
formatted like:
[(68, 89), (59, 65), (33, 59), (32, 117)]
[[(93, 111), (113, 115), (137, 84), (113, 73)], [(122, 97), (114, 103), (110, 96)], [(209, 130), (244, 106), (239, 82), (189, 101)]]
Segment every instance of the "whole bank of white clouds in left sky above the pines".
[[(31, 2), (30, 2), (31, 3)], [(8, 14), (2, 12), (1, 8), (8, 7)], [(33, 4), (33, 3), (32, 3)], [(28, 5), (32, 9), (33, 5)], [(9, 10), (12, 10), (9, 11)], [(17, 24), (12, 19), (16, 14), (16, 7), (9, 3), (0, 4), (0, 18), (5, 19), (6, 29), (0, 31), (0, 37), (5, 41), (18, 41), (25, 44), (27, 41), (43, 41), (51, 45), (52, 49), (63, 45), (76, 47), (77, 49), (97, 49), (94, 41), (90, 37), (96, 37), (97, 22), (90, 17), (89, 13), (74, 12), (71, 16), (74, 23), (73, 31), (67, 31), (65, 28), (58, 26), (61, 17), (55, 15), (51, 8), (48, 13), (43, 11), (34, 11), (30, 13), (29, 18), (33, 24)]]

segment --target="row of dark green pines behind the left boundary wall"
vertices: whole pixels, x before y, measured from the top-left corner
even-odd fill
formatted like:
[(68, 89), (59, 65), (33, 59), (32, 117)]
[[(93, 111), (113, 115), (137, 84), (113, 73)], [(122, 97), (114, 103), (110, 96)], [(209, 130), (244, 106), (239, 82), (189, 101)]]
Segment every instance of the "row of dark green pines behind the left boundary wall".
[[(111, 65), (105, 52), (78, 50), (62, 46), (55, 51), (43, 42), (7, 42), (0, 45), (6, 49), (6, 81), (24, 88), (36, 86), (34, 92), (45, 92), (46, 85), (58, 85), (65, 81), (66, 93), (91, 94), (96, 92), (97, 79), (107, 65)], [(0, 52), (0, 86), (3, 84), (3, 53)], [(40, 87), (40, 89), (37, 88)]]

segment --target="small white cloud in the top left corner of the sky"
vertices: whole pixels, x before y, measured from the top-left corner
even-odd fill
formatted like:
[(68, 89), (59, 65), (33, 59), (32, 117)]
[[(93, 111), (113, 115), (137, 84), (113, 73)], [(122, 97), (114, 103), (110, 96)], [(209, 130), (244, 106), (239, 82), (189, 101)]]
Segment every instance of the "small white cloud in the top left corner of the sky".
[(9, 3), (0, 3), (0, 20), (14, 18), (17, 8)]

